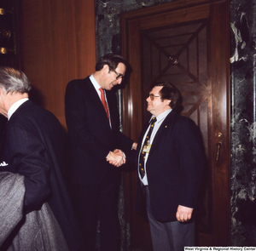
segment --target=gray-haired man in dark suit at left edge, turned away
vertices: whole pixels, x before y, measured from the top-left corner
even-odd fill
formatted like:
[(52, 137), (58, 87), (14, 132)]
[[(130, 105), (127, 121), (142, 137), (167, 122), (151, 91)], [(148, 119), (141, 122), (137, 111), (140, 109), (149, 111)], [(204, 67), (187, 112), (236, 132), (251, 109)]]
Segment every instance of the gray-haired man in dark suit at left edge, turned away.
[[(52, 113), (28, 99), (30, 89), (22, 71), (0, 69), (0, 112), (8, 117), (0, 145), (0, 171), (24, 176), (24, 214), (48, 203), (69, 250), (79, 250), (82, 242), (78, 225), (61, 175), (64, 133)], [(40, 244), (38, 248), (43, 249), (44, 243)]]

